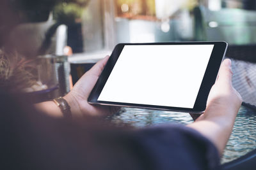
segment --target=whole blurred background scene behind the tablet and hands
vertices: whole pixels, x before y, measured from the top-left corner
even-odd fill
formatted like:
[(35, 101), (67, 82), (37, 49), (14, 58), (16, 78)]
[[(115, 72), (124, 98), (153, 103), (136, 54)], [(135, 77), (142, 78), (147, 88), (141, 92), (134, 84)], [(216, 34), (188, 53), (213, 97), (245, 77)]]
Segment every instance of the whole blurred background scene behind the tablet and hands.
[(255, 62), (254, 0), (2, 0), (0, 4), (0, 87), (24, 92), (57, 88), (60, 92), (54, 96), (63, 96), (117, 43), (227, 41), (227, 57)]

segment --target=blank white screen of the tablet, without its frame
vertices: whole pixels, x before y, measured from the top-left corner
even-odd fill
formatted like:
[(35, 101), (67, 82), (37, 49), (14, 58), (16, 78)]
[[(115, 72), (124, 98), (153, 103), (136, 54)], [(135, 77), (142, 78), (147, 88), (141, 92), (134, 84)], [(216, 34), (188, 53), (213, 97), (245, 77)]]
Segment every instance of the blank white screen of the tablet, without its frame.
[(214, 45), (125, 45), (98, 101), (193, 108)]

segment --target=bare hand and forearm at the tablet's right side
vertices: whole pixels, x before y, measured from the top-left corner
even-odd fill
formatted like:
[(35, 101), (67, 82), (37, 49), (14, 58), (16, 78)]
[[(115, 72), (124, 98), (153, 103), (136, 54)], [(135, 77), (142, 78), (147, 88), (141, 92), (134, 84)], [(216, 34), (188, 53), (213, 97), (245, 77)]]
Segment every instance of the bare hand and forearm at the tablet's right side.
[(208, 138), (221, 155), (232, 132), (241, 106), (240, 94), (232, 87), (231, 60), (225, 59), (212, 86), (204, 114), (188, 127)]

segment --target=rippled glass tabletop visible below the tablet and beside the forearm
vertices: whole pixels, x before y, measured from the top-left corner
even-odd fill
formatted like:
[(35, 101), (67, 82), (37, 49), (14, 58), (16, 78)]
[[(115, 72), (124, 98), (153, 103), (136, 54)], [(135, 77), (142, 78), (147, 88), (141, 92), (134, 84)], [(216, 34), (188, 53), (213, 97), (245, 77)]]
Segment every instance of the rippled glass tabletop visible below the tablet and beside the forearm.
[[(190, 124), (193, 119), (188, 113), (170, 111), (144, 110), (136, 108), (122, 108), (113, 115), (111, 122), (115, 124), (130, 124), (134, 127), (147, 125), (177, 123)], [(227, 143), (221, 163), (230, 162), (256, 149), (256, 112), (241, 106), (237, 114), (234, 129)]]

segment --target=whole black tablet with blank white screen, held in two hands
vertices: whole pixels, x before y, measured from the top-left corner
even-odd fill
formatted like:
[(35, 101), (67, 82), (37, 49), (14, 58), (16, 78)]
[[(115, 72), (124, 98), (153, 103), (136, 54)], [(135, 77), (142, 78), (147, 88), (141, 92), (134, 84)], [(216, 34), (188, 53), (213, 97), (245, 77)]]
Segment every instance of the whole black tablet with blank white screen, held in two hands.
[(224, 41), (118, 44), (88, 102), (202, 113), (226, 50)]

